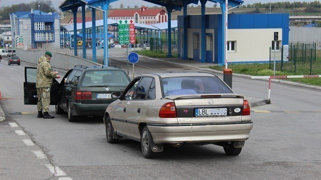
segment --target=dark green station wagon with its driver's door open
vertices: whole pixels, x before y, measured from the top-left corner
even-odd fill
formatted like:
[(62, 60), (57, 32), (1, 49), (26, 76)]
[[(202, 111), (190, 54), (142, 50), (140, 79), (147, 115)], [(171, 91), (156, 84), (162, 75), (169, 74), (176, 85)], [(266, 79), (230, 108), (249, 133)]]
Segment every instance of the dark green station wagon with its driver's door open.
[[(36, 67), (25, 67), (25, 104), (37, 104), (36, 74)], [(66, 111), (71, 122), (79, 116), (102, 117), (108, 104), (115, 100), (111, 92), (122, 92), (129, 82), (127, 73), (117, 65), (75, 65), (60, 83), (54, 79), (50, 103), (55, 105), (57, 114)]]

